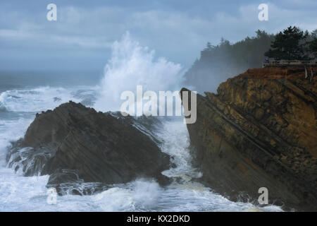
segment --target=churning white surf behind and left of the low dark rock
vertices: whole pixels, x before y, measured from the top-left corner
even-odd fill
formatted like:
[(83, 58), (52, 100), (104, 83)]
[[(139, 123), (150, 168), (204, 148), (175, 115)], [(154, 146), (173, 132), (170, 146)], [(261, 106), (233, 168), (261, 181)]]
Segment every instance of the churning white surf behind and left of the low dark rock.
[[(91, 95), (94, 87), (7, 90), (0, 93), (0, 165), (4, 165), (7, 147), (25, 134), (27, 127), (35, 119), (35, 113), (54, 109), (64, 102), (80, 102)], [(80, 92), (78, 92), (78, 90)], [(87, 91), (88, 90), (88, 91)]]

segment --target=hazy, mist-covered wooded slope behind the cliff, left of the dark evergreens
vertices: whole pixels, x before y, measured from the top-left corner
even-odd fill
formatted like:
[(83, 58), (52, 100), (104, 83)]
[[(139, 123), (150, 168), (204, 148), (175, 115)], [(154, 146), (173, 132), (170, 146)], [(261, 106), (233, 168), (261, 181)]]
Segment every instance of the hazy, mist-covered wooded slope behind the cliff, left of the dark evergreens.
[(264, 52), (273, 40), (274, 35), (258, 30), (254, 37), (235, 44), (223, 38), (217, 45), (208, 42), (200, 59), (185, 73), (185, 85), (193, 85), (199, 92), (216, 91), (218, 84), (230, 76), (262, 67)]

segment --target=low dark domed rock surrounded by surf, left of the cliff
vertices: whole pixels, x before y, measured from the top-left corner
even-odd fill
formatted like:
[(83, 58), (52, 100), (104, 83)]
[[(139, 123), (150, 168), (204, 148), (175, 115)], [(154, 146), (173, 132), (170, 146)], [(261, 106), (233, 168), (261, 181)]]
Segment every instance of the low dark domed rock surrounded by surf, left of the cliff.
[[(140, 119), (137, 125), (151, 124), (149, 120)], [(118, 184), (138, 177), (165, 184), (168, 179), (161, 172), (169, 169), (169, 156), (134, 121), (68, 102), (37, 114), (7, 160), (11, 167), (23, 168), (25, 176), (50, 174), (49, 184)]]

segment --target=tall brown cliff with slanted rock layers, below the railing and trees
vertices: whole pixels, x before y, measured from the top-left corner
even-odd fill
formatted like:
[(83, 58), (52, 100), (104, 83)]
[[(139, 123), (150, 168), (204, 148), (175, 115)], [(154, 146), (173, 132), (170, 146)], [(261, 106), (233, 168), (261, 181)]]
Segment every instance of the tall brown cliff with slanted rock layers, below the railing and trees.
[(270, 203), (317, 210), (316, 88), (303, 69), (249, 69), (197, 95), (187, 129), (204, 182), (232, 200), (257, 203), (266, 187)]

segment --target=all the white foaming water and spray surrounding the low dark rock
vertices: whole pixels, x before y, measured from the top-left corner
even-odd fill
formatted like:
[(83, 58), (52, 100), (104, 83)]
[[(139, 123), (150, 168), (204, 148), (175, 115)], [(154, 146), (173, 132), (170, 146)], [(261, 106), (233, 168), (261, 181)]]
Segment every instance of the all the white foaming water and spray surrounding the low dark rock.
[[(120, 94), (135, 91), (136, 85), (145, 90), (179, 90), (181, 66), (154, 57), (154, 51), (141, 47), (126, 34), (113, 44), (111, 60), (105, 68), (101, 85), (97, 88), (97, 110), (120, 109)], [(10, 141), (23, 137), (35, 112), (54, 109), (63, 102), (80, 102), (85, 97), (77, 88), (8, 90), (0, 94), (2, 109), (15, 117), (0, 119), (0, 160), (4, 162)], [(91, 88), (96, 90), (96, 88)], [(85, 93), (85, 92), (84, 92)], [(91, 95), (91, 93), (86, 93)], [(55, 98), (56, 97), (56, 98)], [(21, 113), (28, 112), (28, 113)], [(0, 112), (1, 114), (6, 114)], [(182, 121), (163, 121), (158, 134), (163, 140), (161, 149), (174, 157), (176, 167), (166, 170), (168, 177), (180, 178), (162, 188), (152, 180), (137, 179), (128, 184), (92, 196), (58, 196), (56, 205), (46, 202), (48, 176), (22, 177), (13, 169), (0, 167), (0, 211), (279, 211), (276, 206), (258, 208), (251, 203), (229, 201), (202, 184), (192, 182), (201, 174), (190, 164), (189, 136)]]

